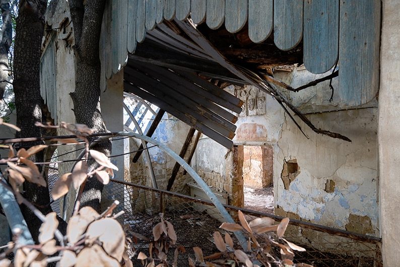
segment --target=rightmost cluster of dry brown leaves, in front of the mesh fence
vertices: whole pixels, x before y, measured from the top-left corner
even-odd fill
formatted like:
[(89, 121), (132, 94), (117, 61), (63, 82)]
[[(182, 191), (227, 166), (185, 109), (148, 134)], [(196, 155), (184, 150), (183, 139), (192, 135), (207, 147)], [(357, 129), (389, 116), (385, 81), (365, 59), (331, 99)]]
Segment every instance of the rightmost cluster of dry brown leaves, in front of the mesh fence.
[[(248, 235), (246, 248), (236, 248), (228, 232), (225, 232), (222, 237), (221, 233), (217, 231), (214, 232), (214, 243), (220, 252), (204, 256), (201, 248), (195, 247), (196, 258), (189, 258), (189, 266), (312, 267), (309, 264), (293, 262), (294, 250), (305, 251), (305, 249), (283, 237), (289, 224), (288, 218), (284, 218), (280, 224), (274, 225), (275, 221), (268, 217), (247, 222), (241, 211), (238, 212), (238, 217), (240, 224), (223, 223), (220, 228), (228, 232), (244, 231)], [(276, 232), (276, 238), (265, 234), (267, 232)], [(257, 240), (263, 240), (263, 242), (260, 243)], [(280, 251), (278, 255), (277, 251)]]

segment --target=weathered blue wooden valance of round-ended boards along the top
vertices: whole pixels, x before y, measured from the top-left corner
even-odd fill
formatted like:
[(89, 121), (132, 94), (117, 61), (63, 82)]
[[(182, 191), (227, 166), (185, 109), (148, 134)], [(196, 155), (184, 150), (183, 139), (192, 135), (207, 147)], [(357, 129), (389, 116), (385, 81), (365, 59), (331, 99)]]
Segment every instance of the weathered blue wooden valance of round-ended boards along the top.
[(249, 38), (264, 41), (274, 30), (278, 48), (303, 40), (303, 60), (318, 74), (339, 60), (339, 90), (349, 105), (361, 105), (379, 88), (380, 0), (109, 0), (103, 20), (104, 77), (125, 65), (146, 31), (163, 20), (206, 23), (231, 32), (248, 23)]

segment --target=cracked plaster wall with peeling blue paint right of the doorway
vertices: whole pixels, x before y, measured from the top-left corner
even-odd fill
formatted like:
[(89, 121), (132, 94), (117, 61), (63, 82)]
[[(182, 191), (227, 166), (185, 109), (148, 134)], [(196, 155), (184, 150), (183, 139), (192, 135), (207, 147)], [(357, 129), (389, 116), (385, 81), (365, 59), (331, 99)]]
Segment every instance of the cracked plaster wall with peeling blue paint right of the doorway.
[[(301, 69), (278, 75), (278, 79), (292, 87), (316, 78), (317, 75)], [(338, 79), (332, 84), (335, 87)], [(363, 107), (348, 107), (340, 104), (335, 94), (329, 103), (330, 92), (327, 81), (298, 95), (287, 96), (302, 112), (311, 113), (307, 117), (317, 128), (339, 132), (352, 142), (317, 135), (300, 123), (309, 137), (307, 140), (284, 115), (275, 155), (276, 213), (294, 213), (302, 220), (379, 235), (376, 100)], [(297, 161), (300, 171), (286, 190), (281, 171), (284, 162), (290, 160)], [(327, 182), (329, 188), (326, 188)], [(358, 227), (360, 221), (365, 222), (364, 229)]]

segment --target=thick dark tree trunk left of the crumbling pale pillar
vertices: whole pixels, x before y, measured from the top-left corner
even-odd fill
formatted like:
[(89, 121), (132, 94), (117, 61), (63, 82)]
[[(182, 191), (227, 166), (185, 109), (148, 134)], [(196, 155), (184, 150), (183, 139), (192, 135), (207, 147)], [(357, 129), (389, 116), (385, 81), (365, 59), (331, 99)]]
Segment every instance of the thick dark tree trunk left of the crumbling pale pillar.
[[(21, 0), (19, 15), (16, 20), (16, 36), (14, 49), (14, 93), (17, 108), (18, 138), (40, 137), (41, 129), (35, 126), (36, 121), (42, 121), (43, 100), (40, 96), (40, 52), (44, 31), (44, 13), (47, 1)], [(16, 148), (41, 144), (40, 142), (20, 143)], [(34, 162), (43, 162), (43, 152), (30, 158)], [(39, 166), (40, 168), (41, 166)], [(30, 182), (24, 182), (25, 197), (44, 214), (51, 212), (50, 197), (47, 187)], [(36, 239), (41, 221), (24, 205), (22, 213), (28, 223), (32, 237)]]

